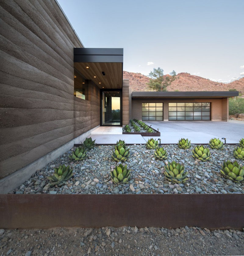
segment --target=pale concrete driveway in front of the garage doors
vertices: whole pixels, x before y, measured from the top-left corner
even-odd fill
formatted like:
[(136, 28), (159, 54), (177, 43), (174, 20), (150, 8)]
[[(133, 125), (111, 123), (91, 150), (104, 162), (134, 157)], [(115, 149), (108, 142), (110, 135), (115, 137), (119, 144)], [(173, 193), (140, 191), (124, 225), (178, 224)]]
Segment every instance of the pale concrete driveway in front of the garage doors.
[[(238, 143), (244, 138), (244, 123), (221, 121), (146, 121), (161, 133), (161, 143), (177, 143), (188, 138), (191, 143), (208, 143), (211, 138), (226, 138), (226, 143)], [(149, 139), (150, 137), (144, 137)], [(155, 137), (153, 137), (155, 138)]]

